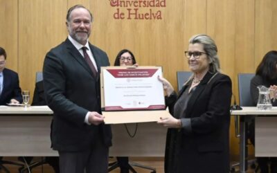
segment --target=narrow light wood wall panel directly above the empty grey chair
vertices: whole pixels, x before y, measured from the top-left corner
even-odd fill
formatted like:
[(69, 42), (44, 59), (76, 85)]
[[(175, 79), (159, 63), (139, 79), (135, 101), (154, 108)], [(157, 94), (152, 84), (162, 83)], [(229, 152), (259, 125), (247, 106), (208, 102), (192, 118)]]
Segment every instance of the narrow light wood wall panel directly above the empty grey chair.
[[(238, 102), (238, 73), (253, 73), (255, 64), (254, 57), (254, 4), (253, 0), (235, 1), (235, 64), (233, 69), (233, 93)], [(237, 103), (238, 104), (238, 103)], [(233, 123), (232, 123), (233, 124)], [(231, 134), (234, 136), (234, 125), (232, 125)], [(238, 155), (238, 138), (231, 138), (231, 153)], [(252, 150), (253, 151), (253, 148)], [(252, 152), (250, 152), (252, 153)]]

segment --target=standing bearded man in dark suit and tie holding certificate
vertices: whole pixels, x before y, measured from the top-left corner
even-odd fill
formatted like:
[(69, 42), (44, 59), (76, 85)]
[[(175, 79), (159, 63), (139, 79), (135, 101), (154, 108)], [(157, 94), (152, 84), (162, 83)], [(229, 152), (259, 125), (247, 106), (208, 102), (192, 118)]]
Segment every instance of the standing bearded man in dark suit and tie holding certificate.
[(101, 115), (100, 66), (109, 66), (109, 60), (88, 42), (92, 21), (84, 6), (69, 8), (69, 36), (44, 60), (46, 102), (54, 112), (52, 147), (62, 173), (106, 173), (108, 167), (111, 127)]

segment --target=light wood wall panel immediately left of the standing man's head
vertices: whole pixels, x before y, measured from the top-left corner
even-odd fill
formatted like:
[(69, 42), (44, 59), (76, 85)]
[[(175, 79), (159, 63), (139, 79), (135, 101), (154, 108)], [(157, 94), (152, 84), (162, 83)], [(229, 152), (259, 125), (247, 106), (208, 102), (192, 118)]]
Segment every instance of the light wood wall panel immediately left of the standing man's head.
[(46, 53), (66, 39), (66, 5), (66, 1), (19, 0), (20, 82), (21, 89), (32, 95), (35, 72), (42, 71)]

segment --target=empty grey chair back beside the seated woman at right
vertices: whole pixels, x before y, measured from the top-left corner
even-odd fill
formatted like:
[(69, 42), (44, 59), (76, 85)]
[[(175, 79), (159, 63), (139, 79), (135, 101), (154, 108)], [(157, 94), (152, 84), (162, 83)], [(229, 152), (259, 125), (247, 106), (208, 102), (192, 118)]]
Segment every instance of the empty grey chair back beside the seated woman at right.
[(250, 93), (250, 82), (254, 77), (254, 73), (238, 74), (238, 93), (241, 107), (252, 107), (252, 98)]

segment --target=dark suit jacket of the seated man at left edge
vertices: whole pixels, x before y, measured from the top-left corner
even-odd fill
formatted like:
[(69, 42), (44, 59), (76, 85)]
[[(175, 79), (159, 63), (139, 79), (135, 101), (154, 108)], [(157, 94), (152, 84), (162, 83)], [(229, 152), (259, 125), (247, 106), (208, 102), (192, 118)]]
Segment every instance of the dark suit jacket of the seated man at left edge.
[(12, 98), (22, 102), (19, 78), (15, 71), (3, 69), (3, 91), (0, 96), (0, 105), (6, 105)]

